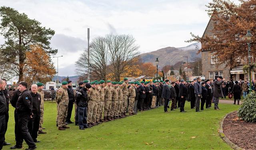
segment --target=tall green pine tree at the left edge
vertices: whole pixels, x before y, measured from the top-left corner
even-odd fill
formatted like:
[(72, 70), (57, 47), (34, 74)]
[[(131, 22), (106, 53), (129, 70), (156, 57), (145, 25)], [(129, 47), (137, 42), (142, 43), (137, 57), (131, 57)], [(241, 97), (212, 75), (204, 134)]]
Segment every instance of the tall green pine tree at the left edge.
[(18, 81), (24, 80), (24, 67), (26, 66), (26, 52), (31, 52), (30, 45), (40, 45), (47, 54), (56, 54), (58, 50), (50, 47), (50, 39), (54, 30), (41, 27), (37, 20), (29, 19), (24, 13), (10, 7), (0, 7), (1, 35), (5, 42), (1, 45), (0, 54), (9, 63), (12, 70), (19, 77)]

